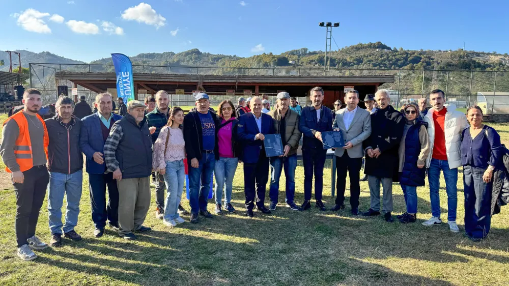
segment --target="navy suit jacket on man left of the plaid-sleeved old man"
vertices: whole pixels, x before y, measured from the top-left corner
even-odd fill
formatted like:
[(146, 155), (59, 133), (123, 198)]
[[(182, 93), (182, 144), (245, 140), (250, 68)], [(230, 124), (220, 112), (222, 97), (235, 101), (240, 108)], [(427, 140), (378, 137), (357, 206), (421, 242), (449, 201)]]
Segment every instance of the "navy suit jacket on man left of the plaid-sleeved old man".
[[(111, 113), (112, 119), (121, 120), (122, 117), (115, 113)], [(113, 124), (113, 123), (111, 123)], [(104, 174), (106, 165), (98, 164), (94, 161), (94, 153), (101, 152), (104, 154), (104, 139), (101, 131), (101, 119), (99, 113), (94, 113), (81, 119), (81, 132), (79, 138), (79, 148), (87, 157), (86, 166), (89, 174)], [(103, 156), (104, 159), (104, 156)]]

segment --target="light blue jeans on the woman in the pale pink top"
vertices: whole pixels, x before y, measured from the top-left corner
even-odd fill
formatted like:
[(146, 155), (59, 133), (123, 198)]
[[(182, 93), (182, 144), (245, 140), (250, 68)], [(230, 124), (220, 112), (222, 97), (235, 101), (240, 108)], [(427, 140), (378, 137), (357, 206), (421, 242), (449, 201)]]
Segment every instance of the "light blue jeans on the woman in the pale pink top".
[(184, 191), (185, 176), (183, 160), (166, 162), (166, 173), (163, 177), (168, 190), (164, 207), (164, 219), (167, 221), (179, 217), (178, 209)]

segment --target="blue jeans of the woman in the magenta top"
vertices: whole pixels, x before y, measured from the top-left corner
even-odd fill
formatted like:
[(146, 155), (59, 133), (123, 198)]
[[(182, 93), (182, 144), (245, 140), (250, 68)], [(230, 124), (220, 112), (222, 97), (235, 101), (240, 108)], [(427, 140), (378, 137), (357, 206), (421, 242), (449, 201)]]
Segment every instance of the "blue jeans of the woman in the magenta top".
[(214, 195), (216, 204), (221, 204), (222, 191), (224, 187), (224, 205), (232, 201), (233, 177), (239, 164), (239, 158), (219, 157), (214, 166), (214, 176), (216, 177), (216, 188)]

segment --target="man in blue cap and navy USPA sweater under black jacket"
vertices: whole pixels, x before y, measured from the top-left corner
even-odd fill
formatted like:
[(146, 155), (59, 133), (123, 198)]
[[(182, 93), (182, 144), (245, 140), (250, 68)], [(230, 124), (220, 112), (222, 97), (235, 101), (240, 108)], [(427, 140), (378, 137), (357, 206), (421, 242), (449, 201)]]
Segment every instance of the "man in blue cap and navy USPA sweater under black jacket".
[(191, 223), (198, 222), (198, 214), (212, 218), (207, 210), (207, 200), (216, 154), (219, 157), (216, 136), (216, 126), (219, 123), (215, 113), (209, 110), (209, 96), (199, 93), (194, 100), (196, 108), (184, 117)]

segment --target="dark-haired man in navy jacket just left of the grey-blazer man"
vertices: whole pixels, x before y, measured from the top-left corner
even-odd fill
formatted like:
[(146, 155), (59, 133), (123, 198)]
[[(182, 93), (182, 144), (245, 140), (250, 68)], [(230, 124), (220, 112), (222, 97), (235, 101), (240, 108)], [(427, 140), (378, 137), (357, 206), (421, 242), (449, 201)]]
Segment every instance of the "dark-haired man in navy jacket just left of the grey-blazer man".
[(304, 163), (304, 203), (301, 210), (311, 207), (311, 189), (313, 187), (313, 173), (315, 174), (316, 206), (326, 211), (322, 202), (323, 167), (327, 149), (323, 149), (322, 133), (332, 131), (332, 111), (322, 105), (323, 89), (313, 88), (309, 93), (312, 106), (302, 108), (300, 113), (299, 130), (304, 134), (302, 142), (302, 159)]

